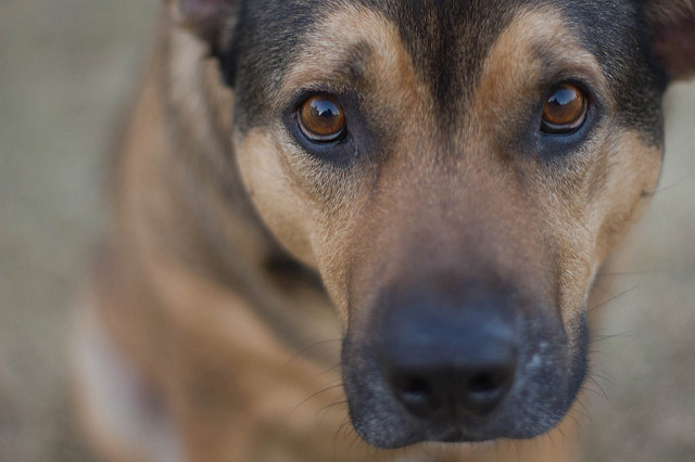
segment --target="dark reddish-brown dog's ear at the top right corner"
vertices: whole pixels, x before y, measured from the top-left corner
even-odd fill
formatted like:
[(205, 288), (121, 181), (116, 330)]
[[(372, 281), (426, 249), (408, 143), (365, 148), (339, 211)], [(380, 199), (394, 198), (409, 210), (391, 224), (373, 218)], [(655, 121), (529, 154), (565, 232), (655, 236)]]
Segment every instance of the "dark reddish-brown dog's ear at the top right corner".
[(646, 0), (657, 57), (674, 79), (695, 77), (695, 0)]

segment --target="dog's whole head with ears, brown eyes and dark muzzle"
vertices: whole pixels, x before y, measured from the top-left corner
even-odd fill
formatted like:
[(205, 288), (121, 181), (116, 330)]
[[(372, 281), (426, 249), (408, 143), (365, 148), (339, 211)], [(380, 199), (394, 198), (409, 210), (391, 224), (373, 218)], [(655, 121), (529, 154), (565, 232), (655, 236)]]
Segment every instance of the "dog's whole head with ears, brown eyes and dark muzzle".
[(345, 328), (379, 447), (528, 438), (586, 370), (586, 298), (657, 182), (693, 0), (178, 0), (233, 88), (248, 194)]

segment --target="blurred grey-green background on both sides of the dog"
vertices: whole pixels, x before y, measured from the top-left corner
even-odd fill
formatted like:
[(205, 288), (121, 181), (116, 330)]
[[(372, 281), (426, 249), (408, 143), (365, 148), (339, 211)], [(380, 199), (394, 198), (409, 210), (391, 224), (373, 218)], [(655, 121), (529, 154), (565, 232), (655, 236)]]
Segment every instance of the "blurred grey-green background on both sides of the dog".
[[(0, 461), (92, 460), (71, 415), (70, 310), (160, 3), (0, 0)], [(666, 105), (659, 192), (598, 287), (586, 461), (695, 460), (695, 86)]]

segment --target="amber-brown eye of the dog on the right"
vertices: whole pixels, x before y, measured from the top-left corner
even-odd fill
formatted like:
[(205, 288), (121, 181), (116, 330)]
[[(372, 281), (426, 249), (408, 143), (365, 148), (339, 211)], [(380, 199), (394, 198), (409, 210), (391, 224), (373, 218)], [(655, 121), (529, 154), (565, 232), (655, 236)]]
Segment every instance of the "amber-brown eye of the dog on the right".
[(587, 102), (584, 93), (571, 84), (555, 87), (543, 105), (541, 131), (568, 134), (586, 119)]

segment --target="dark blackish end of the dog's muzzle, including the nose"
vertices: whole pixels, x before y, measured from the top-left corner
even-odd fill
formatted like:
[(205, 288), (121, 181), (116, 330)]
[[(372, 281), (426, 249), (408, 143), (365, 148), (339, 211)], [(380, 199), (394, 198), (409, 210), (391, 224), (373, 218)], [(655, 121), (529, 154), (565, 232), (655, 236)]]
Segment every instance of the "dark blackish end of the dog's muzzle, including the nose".
[(351, 325), (343, 347), (351, 419), (368, 442), (530, 438), (574, 400), (584, 319), (565, 329), (557, 310), (508, 293), (383, 300), (366, 325)]

